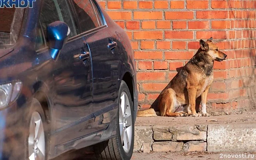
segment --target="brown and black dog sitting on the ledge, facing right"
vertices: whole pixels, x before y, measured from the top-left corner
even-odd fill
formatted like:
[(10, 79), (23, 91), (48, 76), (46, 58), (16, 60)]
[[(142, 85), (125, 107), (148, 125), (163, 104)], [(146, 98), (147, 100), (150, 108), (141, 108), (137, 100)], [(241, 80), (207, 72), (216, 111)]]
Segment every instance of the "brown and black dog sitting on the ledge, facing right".
[[(200, 40), (200, 48), (190, 61), (176, 74), (159, 95), (160, 116), (209, 116), (206, 112), (206, 97), (213, 81), (214, 60), (222, 61), (226, 54), (212, 43)], [(196, 98), (201, 96), (202, 115), (196, 113)], [(157, 116), (153, 108), (138, 111), (140, 116)]]

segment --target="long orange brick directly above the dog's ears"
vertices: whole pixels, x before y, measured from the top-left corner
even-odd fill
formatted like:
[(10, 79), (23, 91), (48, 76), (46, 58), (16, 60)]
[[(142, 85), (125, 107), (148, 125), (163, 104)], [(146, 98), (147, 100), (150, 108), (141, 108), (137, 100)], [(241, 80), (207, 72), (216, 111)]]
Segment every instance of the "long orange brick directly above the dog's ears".
[(213, 37), (214, 39), (225, 39), (226, 32), (225, 31), (197, 31), (196, 39), (208, 39)]

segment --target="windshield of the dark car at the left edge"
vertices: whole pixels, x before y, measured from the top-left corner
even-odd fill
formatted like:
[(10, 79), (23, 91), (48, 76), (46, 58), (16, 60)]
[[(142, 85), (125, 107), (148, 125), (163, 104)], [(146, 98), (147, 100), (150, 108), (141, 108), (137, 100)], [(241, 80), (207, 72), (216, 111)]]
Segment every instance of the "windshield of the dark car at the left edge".
[(0, 49), (10, 48), (18, 39), (22, 25), (23, 8), (0, 9)]

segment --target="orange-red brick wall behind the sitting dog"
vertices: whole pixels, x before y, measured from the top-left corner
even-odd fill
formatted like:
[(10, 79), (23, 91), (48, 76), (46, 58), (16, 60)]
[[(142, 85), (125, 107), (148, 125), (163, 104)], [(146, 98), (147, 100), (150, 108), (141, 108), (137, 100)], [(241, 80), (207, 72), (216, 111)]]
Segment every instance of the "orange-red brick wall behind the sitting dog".
[(100, 0), (130, 37), (137, 65), (139, 109), (149, 108), (200, 39), (228, 55), (214, 63), (208, 93), (213, 110), (255, 106), (255, 0)]

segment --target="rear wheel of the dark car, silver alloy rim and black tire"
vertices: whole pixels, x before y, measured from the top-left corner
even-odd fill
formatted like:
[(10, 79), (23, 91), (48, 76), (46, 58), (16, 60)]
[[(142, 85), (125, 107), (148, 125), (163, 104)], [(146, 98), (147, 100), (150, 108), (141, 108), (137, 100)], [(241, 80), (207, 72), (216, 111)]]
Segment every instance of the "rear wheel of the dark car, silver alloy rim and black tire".
[(118, 94), (116, 136), (94, 146), (97, 159), (130, 160), (134, 146), (134, 114), (131, 94), (122, 80)]

